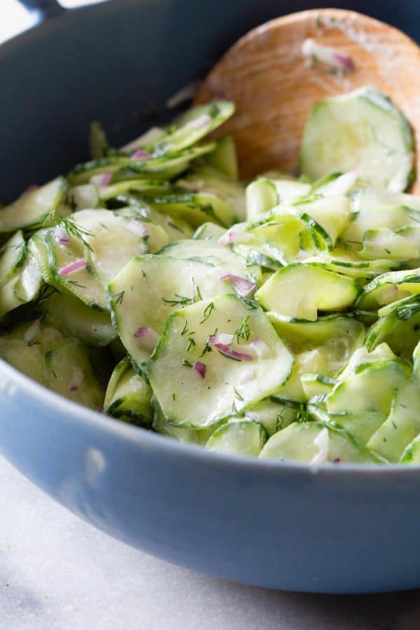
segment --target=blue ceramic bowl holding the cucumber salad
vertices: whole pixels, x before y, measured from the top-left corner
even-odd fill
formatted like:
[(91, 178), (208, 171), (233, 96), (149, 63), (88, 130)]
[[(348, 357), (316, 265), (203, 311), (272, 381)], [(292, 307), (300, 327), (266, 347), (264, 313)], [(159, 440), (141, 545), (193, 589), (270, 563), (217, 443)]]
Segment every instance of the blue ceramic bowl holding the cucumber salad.
[[(2, 45), (1, 195), (85, 158), (92, 118), (116, 144), (127, 141), (146, 125), (151, 102), (165, 103), (202, 75), (250, 27), (320, 4), (115, 0), (56, 15)], [(335, 5), (420, 35), (418, 0)], [(276, 589), (420, 587), (418, 467), (314, 470), (213, 454), (74, 405), (1, 361), (0, 409), (8, 460), (69, 510), (145, 552)]]

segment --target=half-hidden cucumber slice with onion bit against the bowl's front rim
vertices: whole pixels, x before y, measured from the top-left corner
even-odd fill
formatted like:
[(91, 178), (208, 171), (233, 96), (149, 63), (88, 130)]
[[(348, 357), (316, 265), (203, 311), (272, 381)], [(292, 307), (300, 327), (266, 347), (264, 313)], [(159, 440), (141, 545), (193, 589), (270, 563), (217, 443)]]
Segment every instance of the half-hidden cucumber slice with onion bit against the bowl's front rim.
[(345, 430), (320, 422), (295, 422), (269, 438), (260, 453), (262, 459), (279, 461), (379, 463)]

